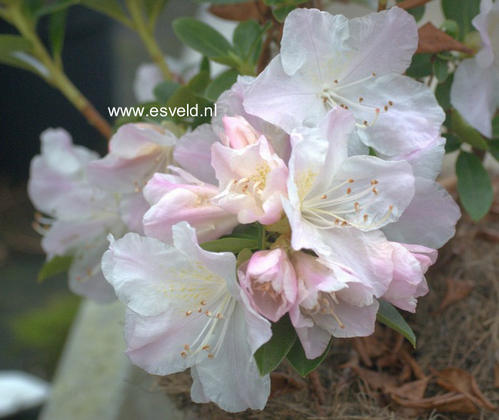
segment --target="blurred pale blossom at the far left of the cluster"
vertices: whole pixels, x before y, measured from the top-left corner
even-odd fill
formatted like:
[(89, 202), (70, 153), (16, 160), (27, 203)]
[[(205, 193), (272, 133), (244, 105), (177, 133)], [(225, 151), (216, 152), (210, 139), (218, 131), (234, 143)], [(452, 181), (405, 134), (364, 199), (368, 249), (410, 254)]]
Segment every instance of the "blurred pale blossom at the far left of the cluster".
[(69, 287), (76, 294), (98, 302), (114, 299), (101, 272), (101, 257), (108, 247), (106, 236), (124, 235), (126, 225), (113, 194), (89, 183), (86, 166), (99, 158), (75, 146), (62, 128), (41, 134), (41, 155), (31, 162), (28, 193), (37, 210), (41, 246), (51, 260), (56, 255), (73, 257)]

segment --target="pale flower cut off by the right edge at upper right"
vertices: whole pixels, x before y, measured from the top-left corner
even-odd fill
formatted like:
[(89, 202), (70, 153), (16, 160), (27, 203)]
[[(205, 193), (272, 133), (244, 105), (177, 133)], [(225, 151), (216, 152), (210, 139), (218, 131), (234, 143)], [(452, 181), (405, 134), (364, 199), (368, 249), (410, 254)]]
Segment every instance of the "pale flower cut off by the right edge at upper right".
[(499, 2), (482, 0), (473, 19), (483, 47), (459, 64), (450, 89), (450, 103), (485, 137), (492, 137), (492, 118), (499, 107)]

